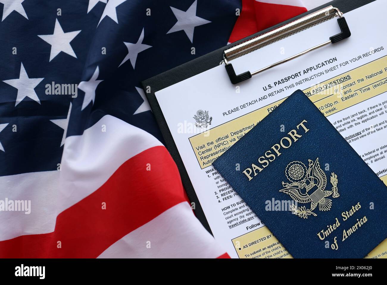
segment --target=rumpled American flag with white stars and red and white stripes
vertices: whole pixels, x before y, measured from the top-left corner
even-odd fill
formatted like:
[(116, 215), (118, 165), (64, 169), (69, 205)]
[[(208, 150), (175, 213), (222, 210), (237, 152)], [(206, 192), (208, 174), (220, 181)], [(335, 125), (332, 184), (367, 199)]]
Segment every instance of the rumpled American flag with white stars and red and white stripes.
[(305, 5), (0, 3), (0, 257), (228, 257), (195, 218), (140, 81)]

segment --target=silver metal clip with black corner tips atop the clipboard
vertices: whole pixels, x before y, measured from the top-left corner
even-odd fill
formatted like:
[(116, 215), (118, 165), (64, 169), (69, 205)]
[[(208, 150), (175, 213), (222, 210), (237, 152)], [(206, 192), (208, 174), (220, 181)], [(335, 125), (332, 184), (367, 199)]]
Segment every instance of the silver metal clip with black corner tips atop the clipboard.
[[(229, 63), (230, 60), (236, 59), (242, 55), (248, 54), (249, 52), (252, 52), (254, 50), (257, 50), (261, 47), (264, 47), (265, 45), (269, 45), (275, 41), (279, 41), (283, 38), (286, 38), (288, 36), (291, 36), (295, 33), (298, 33), (304, 29), (310, 28), (312, 26), (315, 26), (321, 22), (327, 21), (329, 19), (332, 19), (334, 17), (339, 17), (337, 19), (337, 22), (339, 23), (339, 27), (341, 29), (341, 33), (331, 36), (329, 38), (329, 41), (326, 41), (325, 43), (321, 43), (320, 45), (316, 45), (315, 47), (308, 48), (307, 50), (304, 50), (303, 52), (300, 52), (299, 54), (293, 55), (291, 57), (288, 57), (287, 59), (278, 61), (274, 64), (271, 64), (269, 66), (266, 66), (264, 68), (261, 68), (257, 71), (254, 71), (250, 73), (250, 71), (246, 71), (241, 74), (235, 74), (233, 65)], [(307, 54), (308, 52), (311, 52), (312, 50), (316, 50), (317, 48), (324, 47), (325, 45), (328, 45), (329, 43), (336, 43), (338, 41), (341, 41), (345, 38), (348, 38), (351, 36), (351, 32), (349, 31), (347, 22), (345, 18), (342, 16), (342, 13), (339, 9), (333, 7), (332, 5), (321, 9), (319, 11), (313, 12), (311, 14), (308, 14), (305, 17), (302, 17), (296, 21), (290, 22), (289, 24), (286, 24), (284, 26), (281, 26), (279, 28), (273, 29), (267, 33), (264, 33), (260, 36), (257, 36), (256, 38), (252, 38), (248, 41), (245, 41), (243, 43), (240, 43), (239, 45), (236, 45), (234, 47), (228, 48), (227, 50), (224, 50), (223, 53), (223, 61), (221, 64), (225, 64), (227, 74), (231, 80), (231, 83), (237, 84), (242, 81), (245, 81), (246, 79), (251, 78), (253, 75), (261, 73), (271, 67), (283, 64), (285, 62), (288, 62), (289, 60), (295, 59), (297, 57), (300, 57), (301, 55)]]

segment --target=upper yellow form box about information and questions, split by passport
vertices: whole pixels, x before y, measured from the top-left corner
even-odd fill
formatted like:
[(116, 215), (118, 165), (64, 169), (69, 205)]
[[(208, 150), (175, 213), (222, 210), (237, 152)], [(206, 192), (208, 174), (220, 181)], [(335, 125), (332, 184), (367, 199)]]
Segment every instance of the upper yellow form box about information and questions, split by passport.
[[(342, 111), (386, 91), (387, 56), (303, 90), (325, 116)], [(200, 168), (212, 165), (217, 157), (285, 99), (192, 136), (190, 143)]]

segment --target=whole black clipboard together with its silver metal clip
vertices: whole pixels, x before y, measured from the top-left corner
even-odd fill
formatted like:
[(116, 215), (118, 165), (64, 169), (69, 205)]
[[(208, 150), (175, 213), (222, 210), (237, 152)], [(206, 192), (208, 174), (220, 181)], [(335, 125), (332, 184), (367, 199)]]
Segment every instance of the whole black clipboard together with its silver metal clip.
[[(271, 67), (278, 66), (284, 62), (300, 57), (308, 52), (312, 52), (320, 47), (329, 44), (337, 44), (339, 45), (339, 41), (348, 38), (350, 36), (350, 28), (346, 24), (345, 17), (342, 14), (359, 8), (363, 5), (371, 3), (375, 0), (334, 0), (328, 2), (325, 5), (312, 9), (304, 14), (298, 15), (292, 19), (279, 23), (271, 28), (265, 29), (253, 35), (250, 35), (246, 38), (243, 38), (235, 43), (232, 43), (226, 47), (219, 48), (210, 52), (206, 55), (202, 55), (197, 59), (191, 60), (185, 64), (177, 66), (169, 71), (153, 76), (149, 79), (142, 81), (142, 87), (144, 88), (146, 97), (149, 101), (149, 105), (151, 106), (152, 112), (156, 118), (158, 126), (163, 135), (166, 148), (170, 152), (173, 160), (178, 166), (180, 176), (182, 178), (183, 186), (187, 192), (188, 198), (190, 202), (195, 203), (195, 215), (205, 227), (207, 231), (211, 234), (211, 228), (205, 218), (205, 214), (203, 212), (202, 207), (200, 206), (200, 202), (195, 193), (194, 187), (190, 181), (187, 170), (183, 164), (182, 158), (178, 152), (178, 149), (175, 145), (175, 142), (172, 138), (166, 120), (164, 118), (163, 112), (158, 104), (155, 93), (159, 90), (162, 90), (168, 86), (176, 84), (180, 81), (183, 81), (187, 78), (195, 76), (199, 73), (207, 71), (213, 67), (218, 66), (219, 64), (223, 64), (225, 66), (225, 71), (231, 83), (237, 84), (244, 80), (255, 80), (254, 77), (256, 74), (259, 74)], [(329, 40), (317, 45), (315, 47), (306, 47), (307, 49), (303, 52), (288, 57), (287, 59), (281, 60), (279, 62), (274, 62), (273, 64), (266, 66), (258, 71), (245, 71), (241, 74), (236, 74), (234, 68), (232, 66), (232, 60), (248, 54), (254, 50), (257, 50), (266, 45), (270, 45), (271, 43), (291, 36), (295, 33), (298, 33), (304, 29), (311, 28), (315, 25), (318, 25), (321, 22), (332, 19), (332, 17), (337, 17), (338, 24), (341, 28), (341, 33), (337, 35), (332, 35)], [(148, 93), (148, 92), (149, 93)]]

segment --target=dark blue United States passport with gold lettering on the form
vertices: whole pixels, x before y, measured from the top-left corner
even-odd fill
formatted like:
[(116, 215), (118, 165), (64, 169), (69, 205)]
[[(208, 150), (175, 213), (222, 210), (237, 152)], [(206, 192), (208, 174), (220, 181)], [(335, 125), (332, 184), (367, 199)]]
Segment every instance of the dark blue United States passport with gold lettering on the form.
[(213, 165), (295, 258), (362, 258), (387, 237), (387, 187), (301, 90)]

